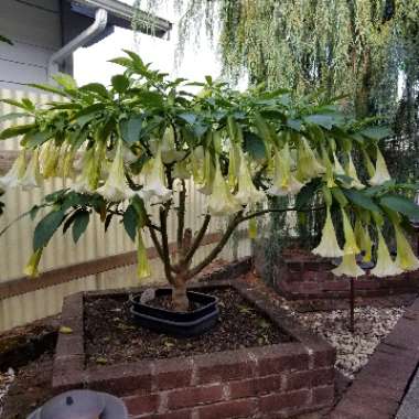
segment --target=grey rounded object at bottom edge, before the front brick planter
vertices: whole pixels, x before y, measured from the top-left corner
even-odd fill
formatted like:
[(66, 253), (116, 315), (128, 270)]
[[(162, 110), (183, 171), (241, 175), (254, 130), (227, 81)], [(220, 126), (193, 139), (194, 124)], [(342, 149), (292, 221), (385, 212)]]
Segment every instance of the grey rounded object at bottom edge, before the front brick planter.
[(63, 393), (26, 419), (128, 419), (127, 408), (115, 396), (92, 390)]

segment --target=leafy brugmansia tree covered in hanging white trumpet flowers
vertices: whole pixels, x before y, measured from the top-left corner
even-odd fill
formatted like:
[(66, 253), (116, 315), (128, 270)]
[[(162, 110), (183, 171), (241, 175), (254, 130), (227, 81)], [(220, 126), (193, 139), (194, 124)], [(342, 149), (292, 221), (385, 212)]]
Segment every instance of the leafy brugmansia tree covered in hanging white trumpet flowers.
[[(336, 276), (358, 277), (363, 270), (356, 255), (372, 257), (372, 233), (378, 236), (373, 275), (397, 275), (419, 268), (406, 239), (407, 218), (417, 216), (416, 205), (399, 192), (415, 185), (390, 179), (378, 142), (385, 128), (366, 127), (340, 112), (339, 106), (311, 95), (294, 100), (283, 89), (254, 88), (244, 93), (226, 84), (169, 80), (127, 51), (114, 60), (125, 67), (111, 86), (93, 83), (77, 87), (66, 75), (60, 87), (37, 86), (63, 96), (36, 107), (28, 99), (10, 105), (32, 117), (29, 125), (6, 129), (2, 140), (22, 135), (22, 151), (0, 184), (35, 187), (44, 180), (69, 179), (71, 186), (45, 196), (40, 208), (47, 214), (37, 223), (33, 256), (25, 272), (35, 276), (43, 249), (62, 226), (72, 226), (74, 240), (85, 232), (94, 213), (105, 229), (121, 217), (127, 234), (138, 246), (138, 275), (150, 275), (143, 243), (148, 230), (173, 287), (175, 310), (186, 310), (186, 283), (212, 262), (236, 227), (269, 212), (324, 211), (323, 236), (313, 250), (323, 257), (342, 257)], [(200, 88), (197, 94), (186, 86)], [(363, 155), (362, 179), (353, 153)], [(207, 195), (202, 226), (185, 226), (186, 182)], [(264, 207), (267, 195), (296, 196), (293, 207)], [(321, 204), (309, 207), (313, 195)], [(150, 206), (159, 208), (153, 218)], [(176, 251), (169, 251), (168, 217), (176, 215)], [(339, 216), (344, 241), (339, 243), (332, 214)], [(227, 225), (208, 256), (193, 265), (212, 217)], [(380, 234), (391, 223), (397, 257), (391, 259)]]

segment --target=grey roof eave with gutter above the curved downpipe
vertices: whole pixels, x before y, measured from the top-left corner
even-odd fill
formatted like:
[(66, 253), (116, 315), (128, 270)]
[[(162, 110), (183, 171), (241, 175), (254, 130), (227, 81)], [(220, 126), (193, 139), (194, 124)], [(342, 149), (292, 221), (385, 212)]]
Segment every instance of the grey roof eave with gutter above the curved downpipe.
[[(135, 9), (119, 0), (67, 0), (72, 8), (82, 14), (94, 15), (96, 9), (105, 9), (110, 14), (110, 23), (116, 26), (131, 29)], [(172, 29), (172, 23), (157, 15), (140, 11), (138, 30), (158, 37), (163, 37)]]

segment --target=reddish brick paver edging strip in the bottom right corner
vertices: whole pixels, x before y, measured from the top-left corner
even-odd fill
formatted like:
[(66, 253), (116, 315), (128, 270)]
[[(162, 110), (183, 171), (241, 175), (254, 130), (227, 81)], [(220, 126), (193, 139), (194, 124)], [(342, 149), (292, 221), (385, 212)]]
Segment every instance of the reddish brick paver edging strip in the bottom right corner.
[(419, 361), (419, 299), (377, 346), (331, 419), (390, 419), (404, 398)]

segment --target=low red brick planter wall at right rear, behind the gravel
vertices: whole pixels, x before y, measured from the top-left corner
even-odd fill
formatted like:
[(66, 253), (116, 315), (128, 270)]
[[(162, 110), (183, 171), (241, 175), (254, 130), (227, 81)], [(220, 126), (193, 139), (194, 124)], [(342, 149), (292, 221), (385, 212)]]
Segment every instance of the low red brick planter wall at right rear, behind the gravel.
[[(256, 259), (256, 270), (260, 260)], [(278, 258), (279, 259), (279, 258)], [(303, 251), (286, 253), (273, 267), (273, 287), (287, 299), (339, 299), (350, 297), (350, 279), (335, 277), (326, 259)], [(259, 273), (260, 275), (260, 273)], [(357, 297), (383, 297), (419, 291), (419, 271), (377, 278), (367, 271), (355, 280)]]

